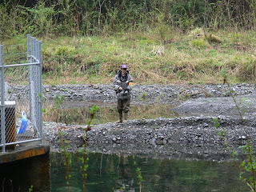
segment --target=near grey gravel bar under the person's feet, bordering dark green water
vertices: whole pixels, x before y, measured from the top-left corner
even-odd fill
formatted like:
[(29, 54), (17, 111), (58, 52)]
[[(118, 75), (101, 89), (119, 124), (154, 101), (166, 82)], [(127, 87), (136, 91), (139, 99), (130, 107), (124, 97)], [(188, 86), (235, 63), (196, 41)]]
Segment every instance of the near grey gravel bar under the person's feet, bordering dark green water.
[[(219, 130), (215, 128), (212, 118), (157, 118), (95, 125), (88, 132), (88, 149), (106, 154), (154, 154), (168, 158), (220, 161), (230, 155), (225, 141), (218, 135), (220, 130), (226, 133), (230, 150), (241, 151), (238, 146), (246, 143), (246, 134), (251, 138), (256, 136), (254, 120), (250, 119), (244, 125), (240, 119), (219, 117), (219, 122)], [(45, 123), (44, 135), (50, 142), (51, 151), (60, 151), (58, 128), (62, 130), (64, 139), (70, 142), (69, 150), (78, 152), (84, 143), (82, 136), (86, 126)], [(251, 142), (255, 144), (255, 140)]]

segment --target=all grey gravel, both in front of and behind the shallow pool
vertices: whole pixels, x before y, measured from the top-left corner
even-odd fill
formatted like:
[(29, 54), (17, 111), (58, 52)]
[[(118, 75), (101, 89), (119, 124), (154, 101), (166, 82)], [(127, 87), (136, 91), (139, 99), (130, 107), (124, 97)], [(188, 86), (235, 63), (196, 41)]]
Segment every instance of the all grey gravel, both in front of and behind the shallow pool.
[[(234, 90), (238, 97), (256, 97), (254, 97), (256, 95), (254, 84), (235, 84), (230, 89)], [(158, 158), (203, 158), (217, 161), (230, 158), (230, 151), (226, 150), (225, 141), (219, 136), (220, 132), (226, 135), (230, 150), (242, 151), (240, 146), (246, 143), (247, 135), (250, 136), (250, 142), (254, 146), (256, 142), (254, 139), (256, 138), (254, 129), (256, 102), (250, 100), (253, 105), (247, 108), (253, 110), (244, 116), (246, 118), (244, 123), (238, 114), (232, 112), (235, 106), (230, 104), (233, 102), (229, 97), (230, 89), (226, 85), (134, 86), (132, 102), (138, 105), (156, 101), (174, 103), (177, 106), (174, 110), (178, 110), (181, 114), (184, 109), (188, 112), (183, 113), (182, 118), (131, 119), (122, 124), (109, 122), (94, 125), (88, 132), (87, 148), (90, 152), (155, 155)], [(46, 99), (52, 99), (56, 94), (63, 95), (67, 101), (87, 99), (86, 101), (107, 103), (115, 99), (110, 85), (44, 86), (43, 91)], [(185, 96), (188, 100), (184, 99)], [(213, 98), (211, 102), (205, 101), (211, 106), (203, 106), (200, 100)], [(225, 106), (215, 98), (229, 98), (230, 101), (224, 100)], [(194, 113), (196, 111), (190, 106), (191, 103), (201, 110), (199, 114)], [(215, 103), (220, 105), (214, 107)], [(210, 113), (208, 113), (209, 109), (212, 109)], [(222, 114), (219, 114), (220, 111)], [(220, 122), (218, 129), (214, 126), (213, 118), (218, 118)], [(51, 151), (59, 151), (58, 128), (62, 129), (64, 138), (70, 142), (69, 150), (78, 152), (83, 144), (82, 135), (85, 134), (83, 129), (86, 126), (44, 122), (43, 132), (46, 141), (50, 142)]]

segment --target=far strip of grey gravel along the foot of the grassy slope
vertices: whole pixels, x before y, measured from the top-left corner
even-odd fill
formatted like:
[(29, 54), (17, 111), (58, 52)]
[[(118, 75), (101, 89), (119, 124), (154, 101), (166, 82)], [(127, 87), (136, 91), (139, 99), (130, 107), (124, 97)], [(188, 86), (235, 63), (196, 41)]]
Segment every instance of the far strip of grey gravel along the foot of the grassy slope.
[[(210, 98), (227, 97), (230, 90), (237, 95), (256, 94), (255, 84), (234, 84), (225, 85), (134, 85), (132, 91), (133, 102), (143, 99), (148, 102), (171, 102), (181, 98)], [(28, 97), (27, 86), (9, 86), (10, 99)], [(56, 85), (42, 86), (44, 99), (54, 99), (56, 95), (62, 95), (65, 100), (72, 101), (115, 101), (114, 87), (112, 85)]]

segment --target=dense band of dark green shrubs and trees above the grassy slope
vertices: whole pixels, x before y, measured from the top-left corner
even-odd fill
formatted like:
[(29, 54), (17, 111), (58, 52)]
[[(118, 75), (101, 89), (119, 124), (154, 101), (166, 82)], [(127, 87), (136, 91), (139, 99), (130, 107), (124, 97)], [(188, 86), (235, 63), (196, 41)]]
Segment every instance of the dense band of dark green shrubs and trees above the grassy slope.
[(254, 30), (256, 0), (3, 0), (2, 35), (97, 35), (165, 26)]

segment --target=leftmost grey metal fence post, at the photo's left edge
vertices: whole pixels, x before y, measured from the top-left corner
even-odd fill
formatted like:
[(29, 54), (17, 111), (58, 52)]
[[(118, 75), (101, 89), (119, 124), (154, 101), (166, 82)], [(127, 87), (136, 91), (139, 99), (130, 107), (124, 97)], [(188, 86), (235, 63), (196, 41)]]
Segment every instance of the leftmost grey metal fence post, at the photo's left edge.
[(6, 152), (6, 107), (5, 107), (5, 77), (3, 68), (3, 46), (0, 46), (0, 67), (1, 67), (1, 129), (2, 129), (2, 153)]

